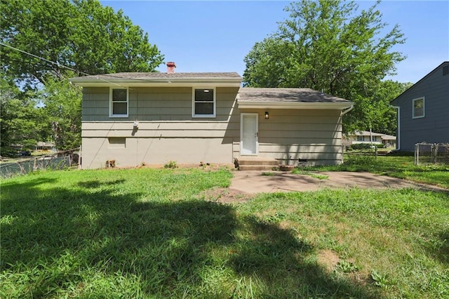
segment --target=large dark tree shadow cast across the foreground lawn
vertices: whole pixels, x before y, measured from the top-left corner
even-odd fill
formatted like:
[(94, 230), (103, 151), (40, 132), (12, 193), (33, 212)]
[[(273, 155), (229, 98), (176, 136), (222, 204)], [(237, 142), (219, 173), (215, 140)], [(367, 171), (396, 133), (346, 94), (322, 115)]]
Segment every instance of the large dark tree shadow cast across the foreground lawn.
[[(54, 186), (39, 187), (48, 182)], [(290, 230), (225, 204), (148, 199), (124, 182), (2, 186), (0, 295), (9, 286), (18, 297), (88, 296), (94, 277), (115, 277), (115, 288), (98, 292), (121, 296), (114, 290), (128, 286), (125, 297), (241, 297), (228, 278), (236, 275), (258, 281), (259, 298), (381, 297), (307, 261), (313, 246)]]

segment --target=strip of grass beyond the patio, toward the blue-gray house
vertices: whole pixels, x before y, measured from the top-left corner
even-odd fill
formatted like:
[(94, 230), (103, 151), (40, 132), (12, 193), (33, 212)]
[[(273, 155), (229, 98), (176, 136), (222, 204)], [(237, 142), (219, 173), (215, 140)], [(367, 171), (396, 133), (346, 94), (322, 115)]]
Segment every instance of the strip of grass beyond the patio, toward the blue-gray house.
[(415, 166), (413, 156), (363, 156), (347, 154), (344, 164), (307, 168), (314, 171), (369, 171), (449, 189), (449, 166)]

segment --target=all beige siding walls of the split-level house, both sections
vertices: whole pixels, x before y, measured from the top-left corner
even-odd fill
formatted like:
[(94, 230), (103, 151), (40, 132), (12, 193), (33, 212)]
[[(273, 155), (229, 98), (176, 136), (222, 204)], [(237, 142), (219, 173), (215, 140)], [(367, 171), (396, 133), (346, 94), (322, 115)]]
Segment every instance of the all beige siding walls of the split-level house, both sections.
[[(129, 117), (109, 117), (109, 88), (83, 88), (82, 167), (232, 164), (240, 155), (240, 115), (259, 114), (259, 156), (342, 161), (340, 110), (239, 109), (239, 88), (216, 88), (216, 117), (192, 117), (192, 87), (129, 88)], [(264, 112), (269, 119), (264, 119)], [(134, 121), (138, 121), (135, 129)], [(125, 138), (125, 147), (109, 139)], [(122, 140), (122, 139), (121, 139)]]

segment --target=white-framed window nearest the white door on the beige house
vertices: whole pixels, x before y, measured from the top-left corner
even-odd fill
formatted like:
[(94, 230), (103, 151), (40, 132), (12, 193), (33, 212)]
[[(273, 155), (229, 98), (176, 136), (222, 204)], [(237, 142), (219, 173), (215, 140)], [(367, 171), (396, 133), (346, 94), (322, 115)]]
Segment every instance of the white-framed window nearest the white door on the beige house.
[(215, 88), (193, 88), (192, 117), (215, 117), (216, 109)]

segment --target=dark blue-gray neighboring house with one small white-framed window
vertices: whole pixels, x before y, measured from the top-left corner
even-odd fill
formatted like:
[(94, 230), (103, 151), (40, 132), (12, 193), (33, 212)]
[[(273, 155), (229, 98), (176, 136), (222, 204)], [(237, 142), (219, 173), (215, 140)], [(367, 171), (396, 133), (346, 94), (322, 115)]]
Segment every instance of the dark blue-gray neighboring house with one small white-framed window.
[(391, 101), (398, 110), (398, 150), (420, 142), (449, 142), (449, 61)]

